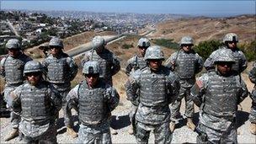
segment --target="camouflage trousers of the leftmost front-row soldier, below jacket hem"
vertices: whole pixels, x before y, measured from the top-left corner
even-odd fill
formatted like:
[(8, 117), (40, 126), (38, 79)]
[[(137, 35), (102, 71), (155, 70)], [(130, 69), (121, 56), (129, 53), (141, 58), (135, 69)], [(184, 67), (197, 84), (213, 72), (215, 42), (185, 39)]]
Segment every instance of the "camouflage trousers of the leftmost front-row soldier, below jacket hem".
[(24, 136), (23, 141), (28, 144), (56, 144), (56, 126), (52, 125), (48, 131), (45, 131), (44, 134), (37, 137)]

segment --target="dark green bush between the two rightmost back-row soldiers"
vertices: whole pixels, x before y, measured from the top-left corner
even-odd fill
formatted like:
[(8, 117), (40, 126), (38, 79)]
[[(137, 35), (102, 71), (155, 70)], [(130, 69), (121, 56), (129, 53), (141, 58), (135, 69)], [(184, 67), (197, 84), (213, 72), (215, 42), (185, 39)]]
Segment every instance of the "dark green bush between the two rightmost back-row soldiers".
[(206, 60), (211, 55), (212, 51), (216, 51), (221, 46), (218, 40), (202, 41), (195, 45), (194, 50)]

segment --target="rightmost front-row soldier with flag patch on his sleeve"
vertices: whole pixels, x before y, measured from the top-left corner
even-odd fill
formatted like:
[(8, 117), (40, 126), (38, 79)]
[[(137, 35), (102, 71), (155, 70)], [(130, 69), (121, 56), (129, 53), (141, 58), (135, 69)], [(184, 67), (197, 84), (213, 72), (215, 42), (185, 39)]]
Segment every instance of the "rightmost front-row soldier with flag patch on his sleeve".
[(235, 59), (229, 49), (216, 51), (216, 70), (207, 72), (191, 88), (200, 107), (198, 143), (237, 143), (237, 104), (248, 96), (241, 78), (232, 71)]

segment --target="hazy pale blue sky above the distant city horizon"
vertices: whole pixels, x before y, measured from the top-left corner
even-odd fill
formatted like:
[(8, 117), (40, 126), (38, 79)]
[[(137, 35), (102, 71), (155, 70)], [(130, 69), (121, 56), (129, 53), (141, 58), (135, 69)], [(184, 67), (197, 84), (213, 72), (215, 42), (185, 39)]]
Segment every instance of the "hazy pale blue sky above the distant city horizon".
[(1, 9), (77, 10), (115, 13), (183, 13), (191, 15), (255, 14), (255, 0), (240, 1), (6, 1)]

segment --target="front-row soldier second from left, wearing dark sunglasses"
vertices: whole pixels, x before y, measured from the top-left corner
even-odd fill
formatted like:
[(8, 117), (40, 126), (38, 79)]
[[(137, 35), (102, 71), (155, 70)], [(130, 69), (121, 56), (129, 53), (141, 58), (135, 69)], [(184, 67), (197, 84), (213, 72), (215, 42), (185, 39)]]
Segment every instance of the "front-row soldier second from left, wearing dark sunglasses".
[(109, 116), (119, 104), (115, 88), (99, 77), (97, 61), (87, 61), (83, 66), (85, 81), (67, 94), (67, 108), (77, 109), (80, 128), (78, 143), (112, 143)]

